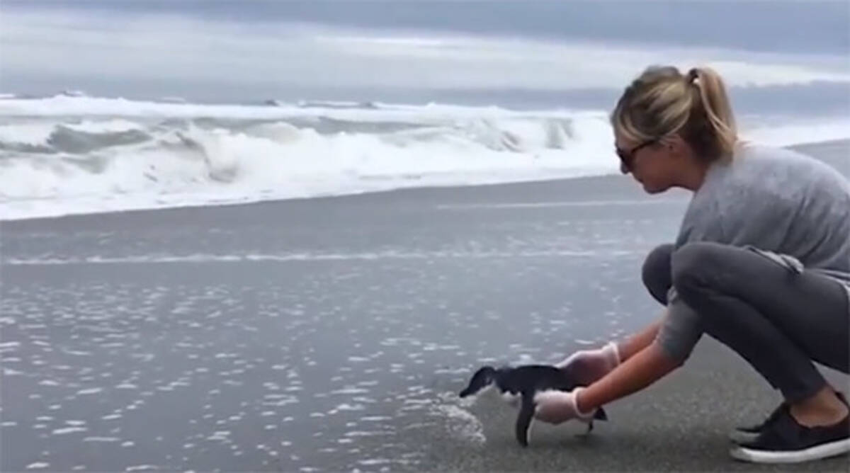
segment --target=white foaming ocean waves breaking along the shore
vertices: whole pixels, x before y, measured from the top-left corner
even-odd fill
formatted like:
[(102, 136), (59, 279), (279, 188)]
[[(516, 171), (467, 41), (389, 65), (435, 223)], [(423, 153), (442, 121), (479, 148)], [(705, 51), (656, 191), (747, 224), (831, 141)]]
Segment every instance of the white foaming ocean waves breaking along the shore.
[[(756, 121), (763, 122), (763, 121)], [(847, 119), (751, 138), (847, 138)], [(604, 111), (314, 102), (0, 102), (0, 219), (618, 172)]]

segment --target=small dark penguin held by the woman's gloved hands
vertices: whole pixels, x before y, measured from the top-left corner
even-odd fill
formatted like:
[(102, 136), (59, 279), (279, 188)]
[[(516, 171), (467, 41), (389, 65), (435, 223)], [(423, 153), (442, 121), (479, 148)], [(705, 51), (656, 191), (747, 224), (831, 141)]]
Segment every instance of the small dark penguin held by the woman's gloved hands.
[[(473, 374), (469, 386), (460, 392), (460, 397), (472, 396), (482, 389), (495, 384), (501, 391), (502, 397), (521, 397), (519, 415), (517, 416), (514, 434), (517, 442), (528, 447), (528, 432), (531, 420), (535, 414), (535, 395), (538, 392), (558, 390), (572, 391), (576, 386), (575, 380), (564, 369), (546, 364), (526, 364), (518, 367), (502, 367), (495, 369), (484, 366)], [(593, 415), (595, 420), (608, 420), (604, 409), (598, 408)], [(587, 432), (593, 430), (593, 420), (587, 423)]]

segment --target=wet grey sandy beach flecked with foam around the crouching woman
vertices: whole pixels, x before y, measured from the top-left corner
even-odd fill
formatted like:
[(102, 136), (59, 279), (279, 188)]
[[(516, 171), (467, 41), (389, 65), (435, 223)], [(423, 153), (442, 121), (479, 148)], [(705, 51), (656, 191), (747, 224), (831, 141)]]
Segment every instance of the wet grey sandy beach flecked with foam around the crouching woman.
[[(802, 149), (850, 176), (850, 143)], [(730, 459), (779, 395), (707, 337), (587, 437), (523, 449), (456, 397), (657, 318), (640, 265), (687, 202), (611, 176), (2, 222), (0, 470), (847, 471)]]

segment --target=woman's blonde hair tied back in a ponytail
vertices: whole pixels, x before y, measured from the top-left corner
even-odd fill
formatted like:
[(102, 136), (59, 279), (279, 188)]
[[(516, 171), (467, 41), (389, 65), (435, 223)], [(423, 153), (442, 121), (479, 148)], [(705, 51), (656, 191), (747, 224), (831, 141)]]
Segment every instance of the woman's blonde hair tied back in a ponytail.
[(678, 133), (706, 161), (731, 156), (738, 140), (723, 79), (708, 67), (685, 75), (672, 66), (648, 67), (626, 87), (611, 125), (635, 142)]

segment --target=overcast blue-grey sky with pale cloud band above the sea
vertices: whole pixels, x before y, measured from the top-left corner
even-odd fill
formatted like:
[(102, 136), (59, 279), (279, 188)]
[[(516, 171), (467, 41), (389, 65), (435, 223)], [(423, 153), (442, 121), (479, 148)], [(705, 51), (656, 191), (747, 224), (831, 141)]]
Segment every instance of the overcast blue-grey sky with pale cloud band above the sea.
[(0, 8), (0, 88), (14, 93), (590, 91), (620, 88), (650, 63), (713, 65), (734, 86), (850, 82), (845, 1), (4, 0)]

